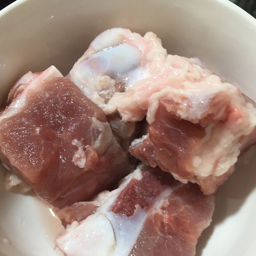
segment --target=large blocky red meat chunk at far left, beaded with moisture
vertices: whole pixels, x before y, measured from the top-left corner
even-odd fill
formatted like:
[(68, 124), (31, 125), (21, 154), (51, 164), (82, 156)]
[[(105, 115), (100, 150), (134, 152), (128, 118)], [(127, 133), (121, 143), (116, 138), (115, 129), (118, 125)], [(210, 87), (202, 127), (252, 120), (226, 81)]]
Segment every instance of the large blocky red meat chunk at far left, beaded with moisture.
[(132, 169), (103, 111), (53, 66), (1, 113), (0, 157), (59, 208), (90, 200)]

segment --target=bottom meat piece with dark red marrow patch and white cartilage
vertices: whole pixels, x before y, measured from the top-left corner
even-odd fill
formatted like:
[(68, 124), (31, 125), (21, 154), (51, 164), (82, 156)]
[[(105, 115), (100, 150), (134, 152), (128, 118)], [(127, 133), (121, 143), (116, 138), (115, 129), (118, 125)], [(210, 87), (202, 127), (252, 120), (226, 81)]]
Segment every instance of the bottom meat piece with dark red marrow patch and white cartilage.
[(98, 207), (94, 214), (55, 238), (65, 255), (192, 256), (211, 222), (214, 197), (149, 168), (135, 170), (91, 204)]

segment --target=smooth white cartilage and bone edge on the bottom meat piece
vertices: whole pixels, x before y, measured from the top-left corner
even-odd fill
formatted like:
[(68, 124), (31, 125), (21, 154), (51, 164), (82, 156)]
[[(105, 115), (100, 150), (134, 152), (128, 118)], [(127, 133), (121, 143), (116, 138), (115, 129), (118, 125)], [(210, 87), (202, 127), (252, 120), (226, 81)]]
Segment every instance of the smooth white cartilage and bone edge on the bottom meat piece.
[(130, 220), (110, 210), (120, 192), (132, 179), (141, 179), (140, 168), (125, 177), (117, 189), (101, 192), (93, 200), (95, 205), (101, 206), (93, 215), (80, 223), (74, 221), (63, 235), (56, 237), (55, 243), (60, 250), (68, 256), (127, 255), (140, 234), (147, 214), (138, 207)]

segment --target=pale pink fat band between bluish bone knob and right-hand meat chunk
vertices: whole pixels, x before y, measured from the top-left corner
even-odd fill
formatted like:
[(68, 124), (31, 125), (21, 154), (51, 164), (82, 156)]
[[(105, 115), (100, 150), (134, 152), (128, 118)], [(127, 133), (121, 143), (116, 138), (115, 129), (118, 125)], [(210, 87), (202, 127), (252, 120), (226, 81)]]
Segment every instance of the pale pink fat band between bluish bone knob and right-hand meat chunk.
[(151, 67), (150, 76), (137, 81), (125, 92), (116, 92), (104, 110), (108, 114), (119, 112), (125, 122), (140, 121), (147, 114), (150, 97), (166, 88), (200, 91), (206, 87), (207, 90), (223, 90), (221, 86), (218, 76), (197, 65), (193, 60), (177, 55), (166, 55), (162, 62)]

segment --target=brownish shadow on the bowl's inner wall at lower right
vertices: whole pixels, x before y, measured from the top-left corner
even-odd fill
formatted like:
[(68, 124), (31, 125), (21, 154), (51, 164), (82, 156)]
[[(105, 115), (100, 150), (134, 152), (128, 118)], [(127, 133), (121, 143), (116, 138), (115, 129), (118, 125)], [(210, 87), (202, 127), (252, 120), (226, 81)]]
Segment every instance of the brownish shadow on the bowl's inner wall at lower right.
[(229, 216), (236, 214), (243, 206), (247, 196), (256, 188), (256, 146), (250, 148), (236, 163), (236, 170), (221, 186), (215, 199), (215, 211), (210, 227), (204, 230), (198, 239), (196, 246), (196, 256), (203, 255), (216, 226)]

